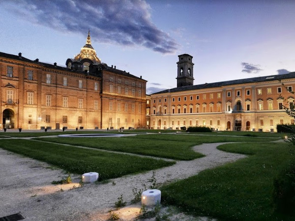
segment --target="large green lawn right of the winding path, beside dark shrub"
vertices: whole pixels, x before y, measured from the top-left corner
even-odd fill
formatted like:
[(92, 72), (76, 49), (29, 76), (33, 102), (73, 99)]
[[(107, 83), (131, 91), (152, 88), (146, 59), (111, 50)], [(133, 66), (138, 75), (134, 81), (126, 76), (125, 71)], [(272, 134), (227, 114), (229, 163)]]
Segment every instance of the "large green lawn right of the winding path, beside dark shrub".
[(275, 214), (272, 204), (273, 179), (291, 159), (288, 144), (238, 143), (219, 149), (249, 157), (166, 185), (162, 199), (196, 216), (219, 220), (292, 220)]

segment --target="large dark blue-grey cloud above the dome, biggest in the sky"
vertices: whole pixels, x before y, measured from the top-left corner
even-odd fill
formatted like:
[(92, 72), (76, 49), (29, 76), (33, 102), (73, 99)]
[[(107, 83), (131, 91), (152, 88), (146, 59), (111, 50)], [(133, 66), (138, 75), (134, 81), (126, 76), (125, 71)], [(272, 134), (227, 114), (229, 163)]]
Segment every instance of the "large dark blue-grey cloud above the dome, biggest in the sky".
[(143, 46), (162, 54), (173, 54), (179, 47), (151, 22), (151, 8), (145, 0), (12, 0), (1, 4), (21, 19), (62, 32), (86, 35), (89, 28), (91, 40), (97, 42)]

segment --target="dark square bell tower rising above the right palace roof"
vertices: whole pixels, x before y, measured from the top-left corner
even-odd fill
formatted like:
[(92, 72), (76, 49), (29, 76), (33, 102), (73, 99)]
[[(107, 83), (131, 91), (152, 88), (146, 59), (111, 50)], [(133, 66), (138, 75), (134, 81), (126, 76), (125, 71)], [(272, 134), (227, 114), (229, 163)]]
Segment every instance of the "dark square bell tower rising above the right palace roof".
[(177, 62), (177, 87), (194, 84), (193, 56), (188, 54), (178, 55)]

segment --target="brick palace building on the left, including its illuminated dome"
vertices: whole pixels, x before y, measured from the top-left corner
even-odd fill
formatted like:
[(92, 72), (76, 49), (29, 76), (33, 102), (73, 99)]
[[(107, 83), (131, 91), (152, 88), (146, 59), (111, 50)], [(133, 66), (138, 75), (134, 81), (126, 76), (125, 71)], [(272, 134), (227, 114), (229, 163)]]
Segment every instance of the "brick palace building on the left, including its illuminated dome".
[(66, 67), (0, 53), (0, 127), (145, 128), (146, 83), (102, 63), (90, 33)]

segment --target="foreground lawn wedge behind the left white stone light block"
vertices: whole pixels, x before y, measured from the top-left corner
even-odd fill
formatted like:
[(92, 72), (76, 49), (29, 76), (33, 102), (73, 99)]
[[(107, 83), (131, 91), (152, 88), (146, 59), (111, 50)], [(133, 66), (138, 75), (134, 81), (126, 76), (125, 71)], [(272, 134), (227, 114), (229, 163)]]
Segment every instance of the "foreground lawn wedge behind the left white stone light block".
[(66, 172), (83, 174), (95, 171), (100, 174), (101, 180), (175, 163), (26, 139), (2, 139), (0, 148), (58, 166)]

